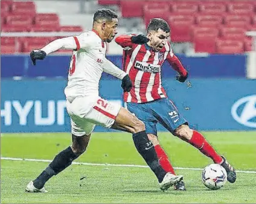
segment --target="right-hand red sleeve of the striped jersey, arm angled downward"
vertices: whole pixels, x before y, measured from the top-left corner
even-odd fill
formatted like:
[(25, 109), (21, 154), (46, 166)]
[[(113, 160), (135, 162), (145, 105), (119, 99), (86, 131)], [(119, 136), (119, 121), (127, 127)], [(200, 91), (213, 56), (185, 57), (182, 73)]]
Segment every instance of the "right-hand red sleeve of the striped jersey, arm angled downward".
[(166, 57), (167, 62), (175, 71), (179, 72), (179, 74), (181, 74), (182, 76), (187, 75), (187, 70), (184, 68), (178, 57), (173, 53), (170, 43), (168, 43), (168, 46), (170, 49)]

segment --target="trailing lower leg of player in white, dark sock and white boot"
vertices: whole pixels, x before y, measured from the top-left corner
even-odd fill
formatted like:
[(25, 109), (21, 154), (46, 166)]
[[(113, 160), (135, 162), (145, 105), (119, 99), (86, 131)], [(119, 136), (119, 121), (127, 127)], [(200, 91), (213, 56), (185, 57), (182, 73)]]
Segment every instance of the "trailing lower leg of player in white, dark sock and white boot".
[(30, 193), (47, 193), (44, 188), (45, 183), (54, 175), (65, 170), (66, 167), (71, 165), (72, 161), (85, 152), (90, 137), (91, 134), (85, 136), (72, 134), (72, 145), (56, 155), (48, 167), (36, 179), (28, 183), (26, 191)]

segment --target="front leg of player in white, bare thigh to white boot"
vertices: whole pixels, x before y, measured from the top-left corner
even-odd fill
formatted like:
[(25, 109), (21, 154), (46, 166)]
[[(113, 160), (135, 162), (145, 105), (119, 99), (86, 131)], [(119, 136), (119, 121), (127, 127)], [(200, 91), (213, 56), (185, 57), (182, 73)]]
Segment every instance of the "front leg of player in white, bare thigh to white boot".
[(155, 173), (161, 190), (167, 190), (170, 186), (182, 180), (183, 176), (176, 176), (170, 172), (165, 171), (158, 162), (155, 148), (150, 142), (147, 133), (145, 132), (144, 123), (142, 123), (136, 116), (132, 115), (129, 110), (121, 107), (118, 112), (113, 129), (124, 130), (133, 134), (133, 142), (139, 154), (142, 156), (147, 165)]

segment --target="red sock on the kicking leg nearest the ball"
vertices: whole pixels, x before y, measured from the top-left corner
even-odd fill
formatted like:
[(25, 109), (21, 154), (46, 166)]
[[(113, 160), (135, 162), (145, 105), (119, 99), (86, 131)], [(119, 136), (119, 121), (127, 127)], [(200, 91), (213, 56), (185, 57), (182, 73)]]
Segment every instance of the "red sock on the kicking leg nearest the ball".
[(201, 151), (203, 155), (213, 159), (214, 163), (220, 164), (222, 162), (222, 157), (206, 141), (203, 135), (196, 130), (193, 130), (192, 138), (188, 142)]

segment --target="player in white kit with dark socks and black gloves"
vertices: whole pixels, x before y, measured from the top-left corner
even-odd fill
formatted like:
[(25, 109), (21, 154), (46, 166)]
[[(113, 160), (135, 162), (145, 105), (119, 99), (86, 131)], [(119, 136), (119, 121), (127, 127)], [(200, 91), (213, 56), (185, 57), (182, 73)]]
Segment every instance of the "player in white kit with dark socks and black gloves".
[(65, 88), (66, 109), (71, 117), (72, 145), (56, 155), (50, 165), (28, 183), (27, 192), (46, 193), (45, 183), (85, 152), (95, 125), (132, 133), (136, 149), (155, 173), (161, 190), (167, 190), (182, 180), (183, 176), (171, 174), (159, 165), (155, 148), (145, 132), (144, 123), (129, 110), (98, 95), (98, 83), (103, 71), (120, 78), (124, 92), (129, 92), (132, 88), (129, 75), (105, 57), (106, 42), (114, 39), (117, 26), (117, 14), (109, 9), (100, 9), (94, 14), (91, 31), (80, 36), (54, 40), (42, 49), (30, 53), (31, 60), (36, 65), (36, 60), (43, 60), (47, 54), (60, 48), (74, 50), (68, 85)]

